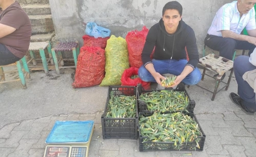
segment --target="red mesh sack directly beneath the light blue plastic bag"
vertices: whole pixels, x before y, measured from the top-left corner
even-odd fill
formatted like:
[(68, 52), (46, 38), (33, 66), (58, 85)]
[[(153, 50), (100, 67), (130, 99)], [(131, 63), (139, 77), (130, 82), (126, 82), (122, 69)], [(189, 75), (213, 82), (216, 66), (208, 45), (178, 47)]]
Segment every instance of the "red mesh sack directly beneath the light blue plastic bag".
[(109, 39), (109, 37), (94, 38), (94, 37), (91, 37), (89, 35), (84, 35), (83, 36), (83, 40), (84, 40), (84, 45), (83, 46), (101, 47), (102, 49), (105, 49), (108, 39)]

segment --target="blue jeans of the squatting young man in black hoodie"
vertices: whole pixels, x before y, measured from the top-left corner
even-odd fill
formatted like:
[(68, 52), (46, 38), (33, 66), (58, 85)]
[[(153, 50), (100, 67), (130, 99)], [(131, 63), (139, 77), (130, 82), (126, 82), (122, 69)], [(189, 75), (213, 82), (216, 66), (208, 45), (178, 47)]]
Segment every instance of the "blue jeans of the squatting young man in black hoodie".
[[(162, 74), (173, 74), (176, 76), (181, 75), (185, 65), (187, 64), (186, 59), (177, 60), (152, 60), (156, 72)], [(156, 82), (151, 73), (142, 65), (139, 68), (139, 78), (145, 82)], [(190, 74), (182, 80), (187, 85), (195, 85), (201, 80), (201, 72), (198, 68), (195, 68)]]

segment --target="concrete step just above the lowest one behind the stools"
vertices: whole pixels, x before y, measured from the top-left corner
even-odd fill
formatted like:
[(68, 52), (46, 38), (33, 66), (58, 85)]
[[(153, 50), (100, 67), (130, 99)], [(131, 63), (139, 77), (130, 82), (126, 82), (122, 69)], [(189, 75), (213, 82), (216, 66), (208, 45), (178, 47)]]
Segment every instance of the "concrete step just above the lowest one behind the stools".
[(52, 15), (29, 15), (32, 35), (46, 34), (54, 31)]

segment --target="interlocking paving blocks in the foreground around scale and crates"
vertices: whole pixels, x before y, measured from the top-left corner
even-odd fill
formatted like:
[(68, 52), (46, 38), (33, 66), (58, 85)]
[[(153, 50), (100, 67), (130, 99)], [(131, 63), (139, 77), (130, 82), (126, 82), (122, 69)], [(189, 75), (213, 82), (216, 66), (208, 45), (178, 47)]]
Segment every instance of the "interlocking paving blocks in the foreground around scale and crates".
[[(256, 116), (242, 112), (197, 114), (206, 134), (203, 151), (139, 152), (138, 140), (102, 139), (101, 115), (70, 113), (23, 120), (0, 130), (1, 157), (42, 157), (45, 139), (56, 120), (94, 120), (89, 157), (255, 157)], [(100, 136), (99, 138), (97, 138)], [(191, 153), (191, 155), (189, 155)]]

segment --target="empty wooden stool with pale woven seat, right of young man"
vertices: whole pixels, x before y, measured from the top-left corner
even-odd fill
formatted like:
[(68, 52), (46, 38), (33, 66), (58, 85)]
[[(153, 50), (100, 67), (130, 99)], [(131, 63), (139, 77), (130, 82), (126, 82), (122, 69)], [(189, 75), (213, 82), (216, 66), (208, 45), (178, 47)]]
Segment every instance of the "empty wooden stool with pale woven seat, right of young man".
[[(206, 88), (203, 88), (202, 86), (197, 85), (198, 87), (200, 87), (200, 88), (202, 88), (202, 89), (204, 89), (204, 90), (206, 90), (206, 91), (208, 91), (208, 92), (213, 93), (212, 99), (211, 99), (212, 101), (214, 100), (214, 98), (215, 98), (215, 96), (216, 96), (217, 93), (219, 93), (219, 92), (220, 92), (221, 90), (223, 90), (224, 88), (225, 88), (225, 90), (228, 89), (229, 83), (230, 83), (230, 80), (231, 80), (231, 77), (232, 77), (233, 71), (234, 71), (234, 69), (233, 69), (233, 63), (234, 63), (234, 62), (231, 61), (231, 60), (228, 60), (228, 59), (223, 58), (223, 57), (216, 56), (216, 55), (214, 55), (214, 54), (209, 54), (209, 55), (207, 55), (207, 56), (205, 56), (205, 57), (199, 59), (199, 64), (201, 64), (201, 65), (204, 67), (204, 68), (203, 68), (203, 74), (202, 74), (202, 79), (201, 79), (201, 80), (204, 79), (204, 75), (207, 75), (207, 74), (205, 74), (206, 69), (209, 69), (210, 71), (213, 71), (213, 72), (215, 72), (215, 73), (217, 72), (217, 73), (219, 74), (219, 75), (217, 76), (217, 78), (214, 78), (214, 77), (212, 77), (212, 76), (210, 76), (210, 75), (207, 75), (207, 76), (209, 76), (209, 77), (211, 77), (211, 78), (216, 79), (214, 92), (212, 92), (212, 91), (210, 91), (210, 90), (208, 90), (208, 89), (206, 89)], [(223, 76), (227, 71), (229, 71), (229, 70), (231, 70), (231, 72), (230, 72), (228, 81), (227, 81), (227, 83), (226, 83), (226, 82), (223, 82), (223, 81), (221, 80), (221, 78), (222, 78), (222, 76)], [(222, 89), (218, 90), (219, 85), (220, 85), (220, 82), (224, 83), (225, 86), (224, 86)]]

